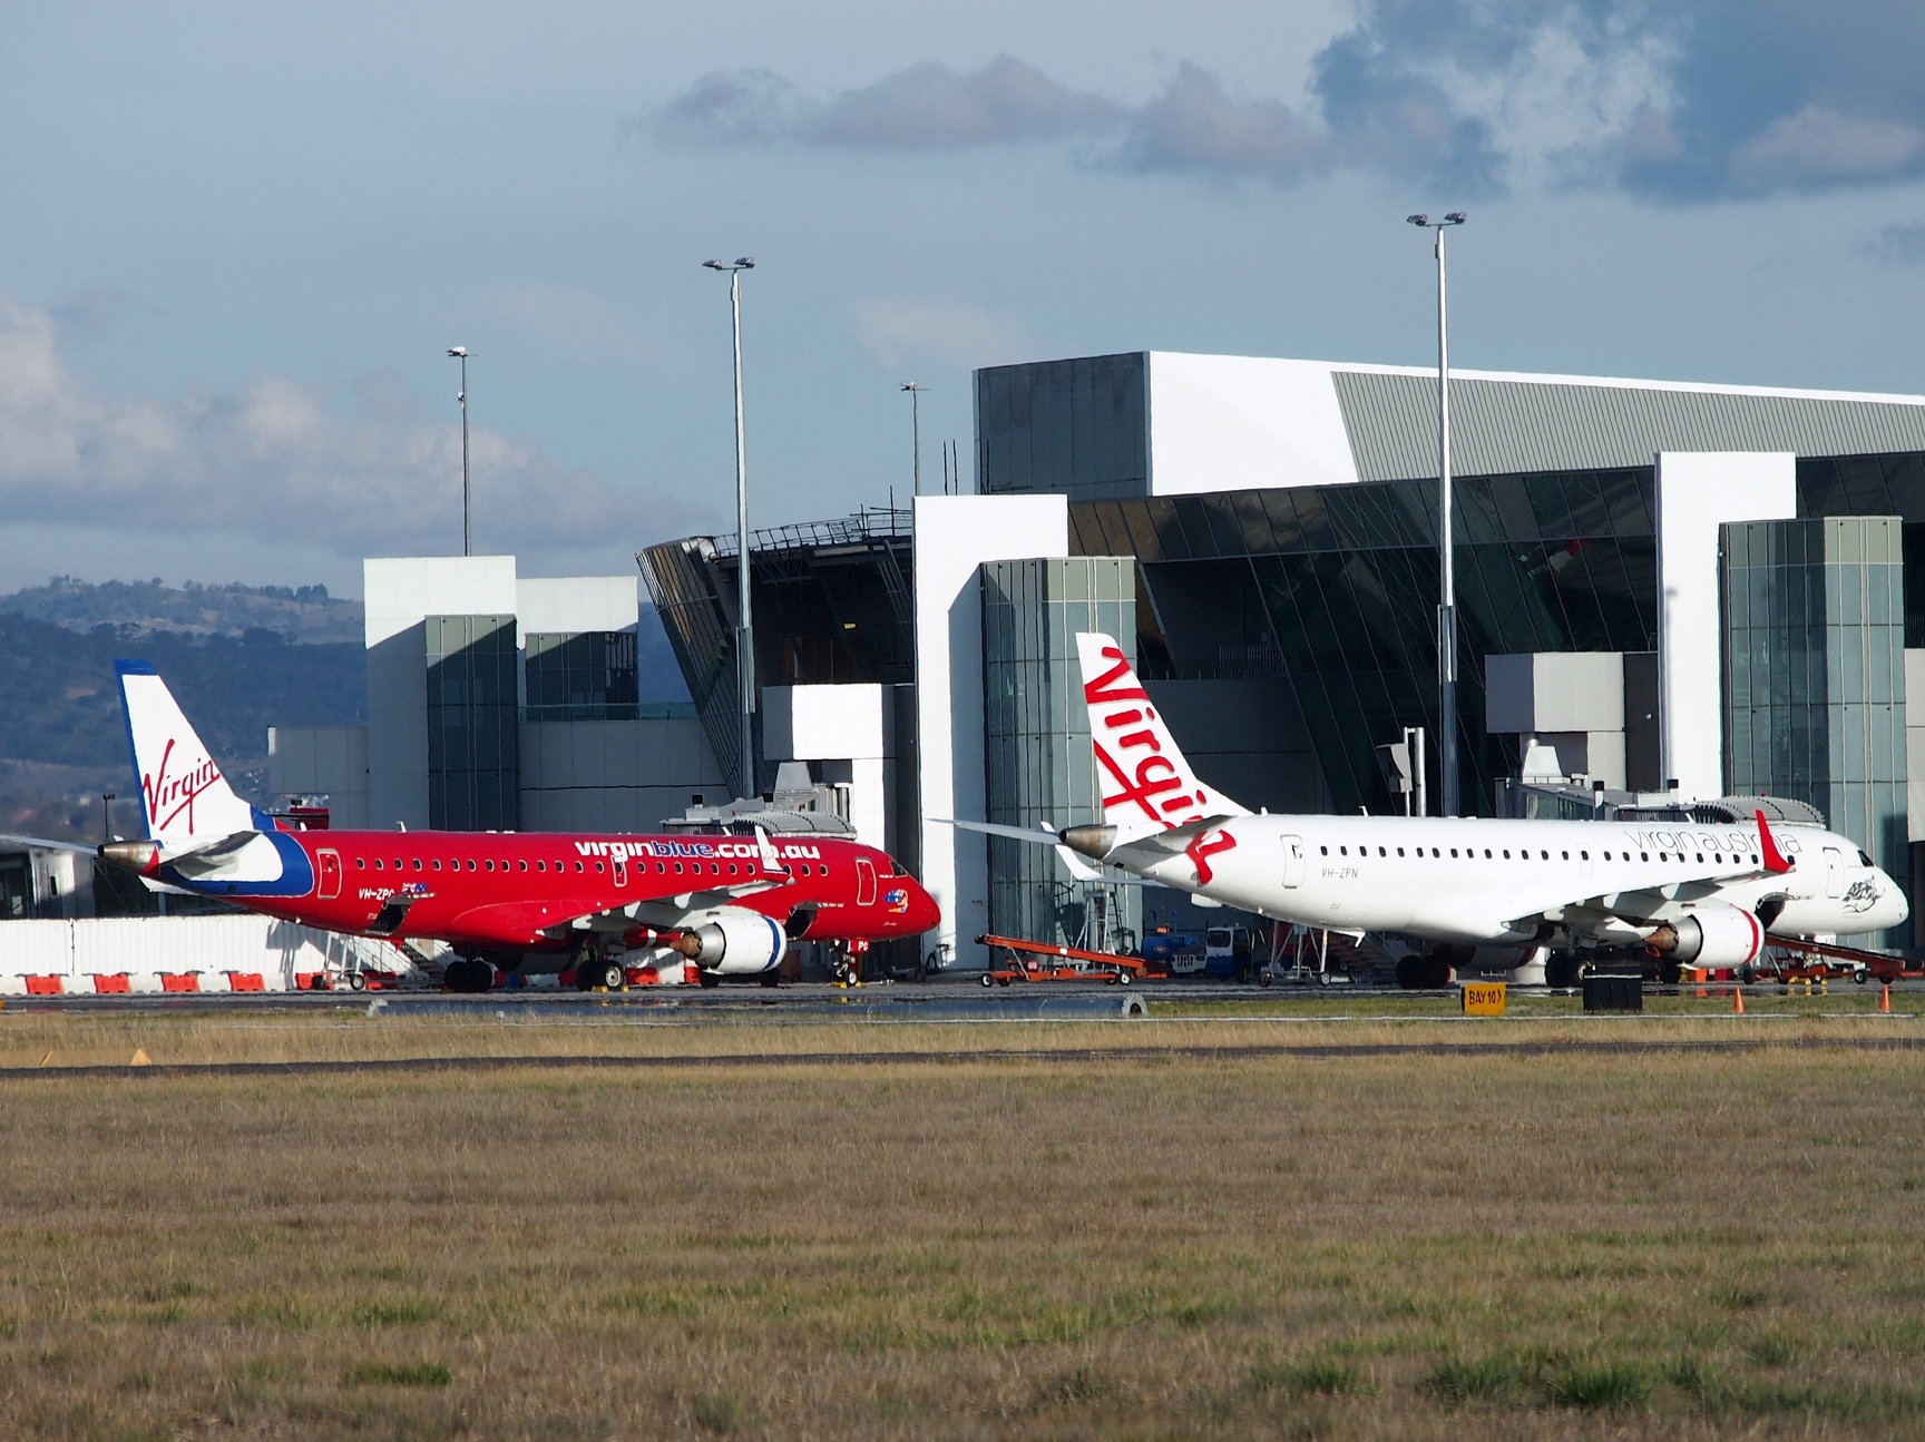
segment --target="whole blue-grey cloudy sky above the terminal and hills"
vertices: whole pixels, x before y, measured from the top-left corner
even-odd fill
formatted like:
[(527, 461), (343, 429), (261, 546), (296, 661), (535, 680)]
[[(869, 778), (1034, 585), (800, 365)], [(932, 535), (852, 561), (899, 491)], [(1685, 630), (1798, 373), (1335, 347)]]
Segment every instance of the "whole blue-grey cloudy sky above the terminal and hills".
[(629, 572), (970, 445), (974, 366), (1925, 389), (1896, 0), (0, 0), (0, 589)]

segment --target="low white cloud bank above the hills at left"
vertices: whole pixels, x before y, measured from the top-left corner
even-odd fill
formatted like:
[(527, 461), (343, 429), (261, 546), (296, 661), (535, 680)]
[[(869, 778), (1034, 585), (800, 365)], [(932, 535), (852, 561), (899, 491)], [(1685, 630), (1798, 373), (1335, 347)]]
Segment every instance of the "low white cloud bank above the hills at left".
[[(460, 425), (381, 397), (343, 414), (273, 373), (171, 402), (100, 397), (62, 364), (50, 312), (0, 298), (0, 504), (23, 522), (144, 533), (156, 549), (241, 533), (345, 556), (445, 551), (460, 533)], [(610, 529), (639, 545), (708, 520), (500, 431), (475, 427), (470, 445), (477, 547), (606, 549)]]

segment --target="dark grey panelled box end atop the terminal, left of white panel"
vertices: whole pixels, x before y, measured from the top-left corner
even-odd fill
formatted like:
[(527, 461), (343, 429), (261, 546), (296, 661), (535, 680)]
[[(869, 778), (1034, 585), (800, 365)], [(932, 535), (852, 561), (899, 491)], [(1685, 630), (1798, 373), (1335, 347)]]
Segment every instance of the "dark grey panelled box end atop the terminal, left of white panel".
[(976, 489), (1074, 501), (1149, 491), (1149, 356), (976, 372)]

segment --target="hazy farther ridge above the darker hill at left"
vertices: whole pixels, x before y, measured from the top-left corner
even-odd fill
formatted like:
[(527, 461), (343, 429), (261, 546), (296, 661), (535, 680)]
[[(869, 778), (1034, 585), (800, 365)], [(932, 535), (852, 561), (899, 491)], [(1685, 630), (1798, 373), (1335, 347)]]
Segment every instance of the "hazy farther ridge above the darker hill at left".
[(277, 631), (300, 645), (360, 643), (360, 601), (337, 601), (325, 585), (162, 585), (56, 576), (46, 585), (0, 597), (0, 612), (90, 631), (116, 626), (127, 635), (244, 635)]

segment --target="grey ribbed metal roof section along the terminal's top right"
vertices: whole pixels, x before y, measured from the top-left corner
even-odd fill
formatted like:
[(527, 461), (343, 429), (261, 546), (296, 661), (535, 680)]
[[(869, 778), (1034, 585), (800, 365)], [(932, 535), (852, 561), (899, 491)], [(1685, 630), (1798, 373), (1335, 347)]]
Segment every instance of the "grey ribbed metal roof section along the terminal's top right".
[[(1332, 368), (1359, 481), (1436, 476), (1436, 372)], [(1925, 451), (1925, 404), (1894, 397), (1451, 373), (1459, 476), (1650, 466), (1657, 451)]]

